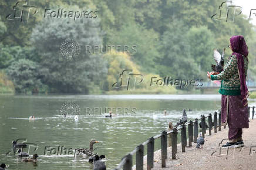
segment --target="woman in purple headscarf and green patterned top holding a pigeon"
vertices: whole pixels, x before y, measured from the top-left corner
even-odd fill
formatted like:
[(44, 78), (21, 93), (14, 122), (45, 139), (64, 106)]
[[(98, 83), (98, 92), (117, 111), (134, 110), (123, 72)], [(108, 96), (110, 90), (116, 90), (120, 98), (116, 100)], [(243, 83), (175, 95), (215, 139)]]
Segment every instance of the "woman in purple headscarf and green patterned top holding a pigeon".
[(249, 128), (247, 114), (248, 89), (246, 76), (248, 68), (248, 48), (243, 36), (230, 38), (230, 49), (233, 51), (221, 73), (207, 73), (211, 80), (221, 80), (221, 123), (228, 124), (227, 144), (222, 147), (243, 147), (242, 128)]

